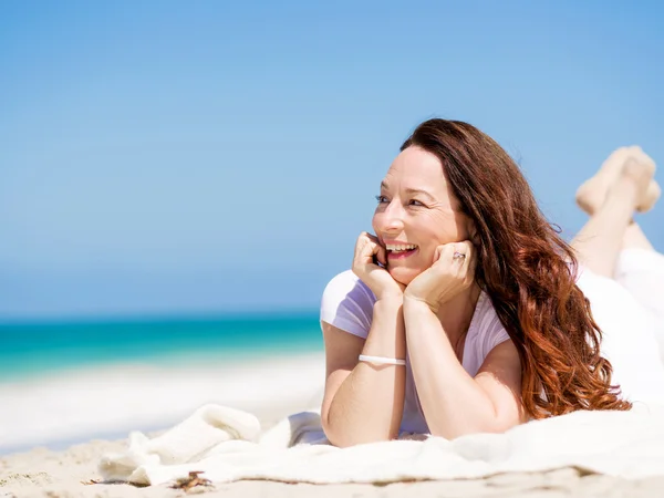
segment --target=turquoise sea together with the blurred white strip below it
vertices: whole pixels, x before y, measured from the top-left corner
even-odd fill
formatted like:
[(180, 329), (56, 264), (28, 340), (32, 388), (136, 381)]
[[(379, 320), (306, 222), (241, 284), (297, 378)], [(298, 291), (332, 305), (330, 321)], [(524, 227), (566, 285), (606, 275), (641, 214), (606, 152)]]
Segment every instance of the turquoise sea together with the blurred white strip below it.
[(318, 312), (0, 324), (0, 455), (319, 402)]

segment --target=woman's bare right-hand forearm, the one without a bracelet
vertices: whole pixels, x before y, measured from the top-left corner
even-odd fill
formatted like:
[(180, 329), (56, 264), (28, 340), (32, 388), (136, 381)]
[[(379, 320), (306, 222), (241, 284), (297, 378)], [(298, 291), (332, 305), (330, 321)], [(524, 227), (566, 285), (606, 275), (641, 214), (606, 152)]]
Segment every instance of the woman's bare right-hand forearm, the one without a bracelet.
[(464, 370), (436, 314), (408, 298), (403, 309), (413, 378), (430, 433), (450, 439), (496, 430), (490, 397)]

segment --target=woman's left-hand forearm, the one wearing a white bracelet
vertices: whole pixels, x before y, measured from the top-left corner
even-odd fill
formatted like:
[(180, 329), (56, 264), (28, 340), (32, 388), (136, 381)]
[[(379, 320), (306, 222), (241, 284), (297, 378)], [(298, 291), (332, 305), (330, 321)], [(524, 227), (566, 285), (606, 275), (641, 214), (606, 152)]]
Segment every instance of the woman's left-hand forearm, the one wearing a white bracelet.
[[(362, 354), (406, 357), (401, 299), (376, 301)], [(325, 434), (345, 447), (398, 436), (404, 407), (406, 369), (359, 362), (331, 402)]]

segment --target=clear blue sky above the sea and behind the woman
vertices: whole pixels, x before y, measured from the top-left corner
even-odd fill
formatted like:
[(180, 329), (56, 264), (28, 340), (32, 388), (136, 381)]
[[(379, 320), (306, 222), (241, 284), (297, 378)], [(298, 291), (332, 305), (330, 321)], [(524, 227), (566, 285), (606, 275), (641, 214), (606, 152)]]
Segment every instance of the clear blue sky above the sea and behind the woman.
[[(571, 238), (639, 144), (661, 2), (0, 2), (0, 319), (314, 310), (423, 120), (521, 164)], [(664, 203), (640, 221), (664, 250)]]

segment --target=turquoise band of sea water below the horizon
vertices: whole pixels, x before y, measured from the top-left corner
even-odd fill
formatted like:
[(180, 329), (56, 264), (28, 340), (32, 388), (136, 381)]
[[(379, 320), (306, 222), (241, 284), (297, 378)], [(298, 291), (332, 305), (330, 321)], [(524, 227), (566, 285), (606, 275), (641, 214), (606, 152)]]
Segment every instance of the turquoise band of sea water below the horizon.
[(113, 363), (222, 362), (323, 350), (318, 312), (0, 324), (0, 381)]

